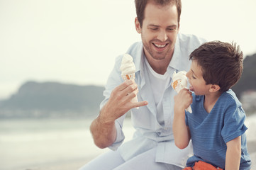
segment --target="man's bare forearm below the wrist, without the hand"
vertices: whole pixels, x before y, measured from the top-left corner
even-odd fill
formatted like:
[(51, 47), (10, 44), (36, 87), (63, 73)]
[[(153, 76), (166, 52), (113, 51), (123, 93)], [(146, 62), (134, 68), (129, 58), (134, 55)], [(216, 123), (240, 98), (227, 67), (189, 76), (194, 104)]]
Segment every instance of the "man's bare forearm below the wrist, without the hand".
[(105, 123), (101, 115), (91, 123), (90, 130), (95, 145), (101, 149), (111, 146), (116, 140), (115, 121)]

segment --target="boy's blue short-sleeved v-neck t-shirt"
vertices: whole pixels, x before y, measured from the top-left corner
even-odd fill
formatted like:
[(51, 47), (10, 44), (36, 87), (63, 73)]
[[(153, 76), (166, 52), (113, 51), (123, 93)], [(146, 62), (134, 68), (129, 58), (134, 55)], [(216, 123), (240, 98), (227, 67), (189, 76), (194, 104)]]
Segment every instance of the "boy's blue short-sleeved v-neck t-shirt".
[(241, 136), (240, 169), (250, 169), (245, 131), (245, 111), (232, 90), (221, 94), (210, 113), (204, 108), (204, 96), (193, 94), (192, 113), (186, 112), (194, 155), (187, 160), (187, 166), (204, 161), (225, 169), (226, 143)]

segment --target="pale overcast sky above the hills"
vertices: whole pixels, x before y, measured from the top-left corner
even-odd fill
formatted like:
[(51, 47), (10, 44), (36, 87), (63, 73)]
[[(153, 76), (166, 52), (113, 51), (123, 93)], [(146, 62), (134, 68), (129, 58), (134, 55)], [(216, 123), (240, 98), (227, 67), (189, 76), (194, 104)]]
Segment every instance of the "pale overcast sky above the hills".
[[(183, 0), (181, 33), (256, 53), (255, 0)], [(26, 81), (106, 84), (140, 35), (133, 0), (0, 0), (0, 99)]]

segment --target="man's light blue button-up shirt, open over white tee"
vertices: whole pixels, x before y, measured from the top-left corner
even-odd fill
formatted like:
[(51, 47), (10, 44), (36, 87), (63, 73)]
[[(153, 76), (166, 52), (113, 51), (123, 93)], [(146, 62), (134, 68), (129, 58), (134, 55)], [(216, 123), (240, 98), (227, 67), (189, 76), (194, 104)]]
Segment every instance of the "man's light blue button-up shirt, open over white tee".
[[(191, 64), (191, 61), (189, 61), (190, 53), (204, 42), (206, 40), (197, 38), (194, 35), (179, 33), (174, 46), (174, 55), (172, 56), (172, 61), (169, 63), (169, 69), (173, 69), (174, 71), (188, 71)], [(148, 105), (131, 110), (131, 119), (133, 127), (136, 130), (133, 140), (123, 143), (125, 136), (122, 128), (125, 115), (116, 120), (117, 137), (116, 141), (109, 148), (113, 150), (118, 149), (118, 152), (120, 152), (126, 161), (149, 149), (156, 148), (156, 162), (184, 166), (189, 158), (188, 154), (191, 152), (191, 148), (178, 149), (174, 145), (172, 133), (173, 98), (177, 93), (172, 89), (171, 84), (169, 84), (162, 98), (162, 113), (157, 113), (155, 99), (152, 94), (152, 90), (157, 89), (151, 88), (150, 78), (145, 69), (143, 43), (135, 42), (127, 53), (133, 57), (133, 62), (135, 63), (135, 82), (138, 84), (139, 90), (137, 94), (138, 101), (148, 101)], [(101, 102), (100, 108), (108, 101), (111, 91), (123, 82), (120, 70), (122, 57), (123, 55), (120, 55), (116, 58), (116, 63), (108, 77), (104, 91), (105, 99)], [(163, 114), (163, 125), (160, 125), (157, 121), (158, 114)]]

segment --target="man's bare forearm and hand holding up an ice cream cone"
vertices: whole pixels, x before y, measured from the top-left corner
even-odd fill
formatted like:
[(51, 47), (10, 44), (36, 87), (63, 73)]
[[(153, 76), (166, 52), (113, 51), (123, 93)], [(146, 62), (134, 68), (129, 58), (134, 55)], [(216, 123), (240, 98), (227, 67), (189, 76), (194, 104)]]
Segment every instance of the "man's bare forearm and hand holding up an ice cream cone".
[(94, 143), (100, 148), (109, 147), (116, 140), (115, 120), (130, 108), (145, 106), (147, 101), (130, 102), (138, 94), (138, 86), (134, 80), (128, 80), (113, 89), (99, 116), (91, 123), (91, 134)]

